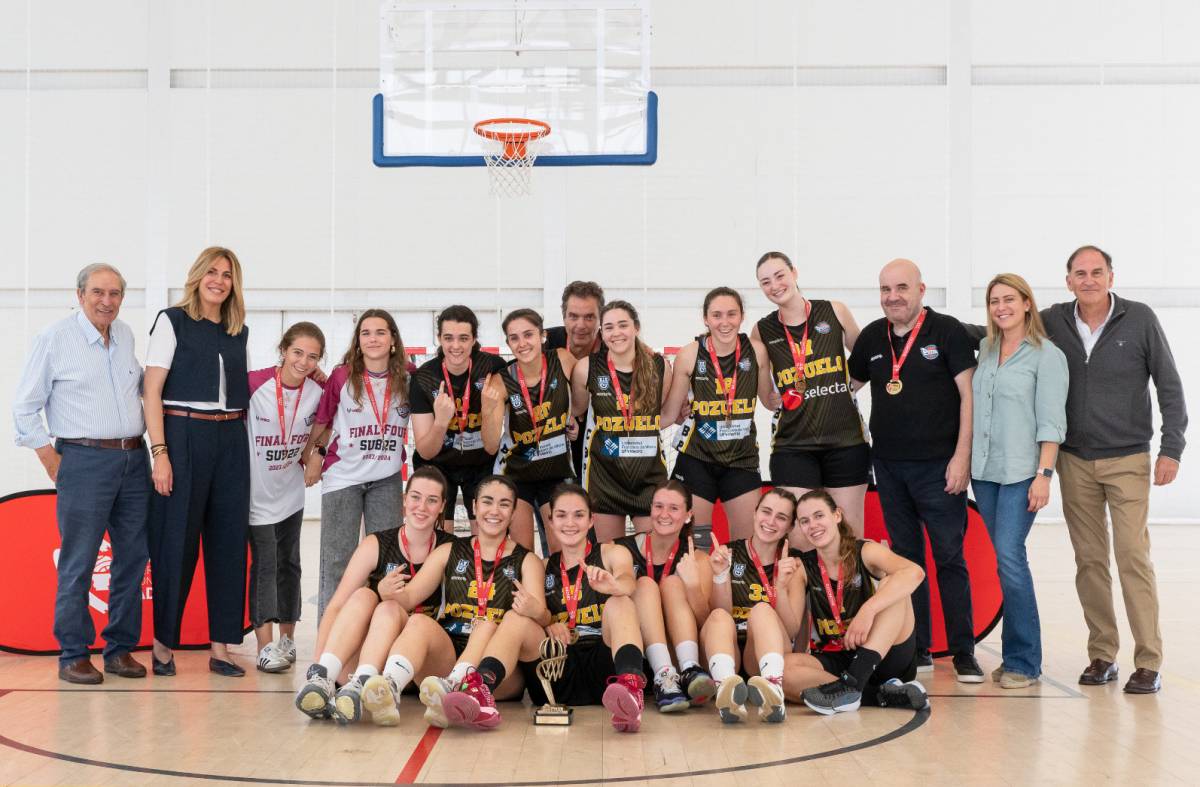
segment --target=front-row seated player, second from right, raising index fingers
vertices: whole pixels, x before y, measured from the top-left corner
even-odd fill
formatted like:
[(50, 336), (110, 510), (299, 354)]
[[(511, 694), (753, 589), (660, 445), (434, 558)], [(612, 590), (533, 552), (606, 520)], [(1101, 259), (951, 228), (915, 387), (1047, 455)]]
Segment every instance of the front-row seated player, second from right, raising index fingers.
[[(754, 512), (754, 535), (713, 551), (713, 612), (701, 630), (708, 671), (718, 681), (716, 710), (725, 723), (746, 717), (780, 722), (784, 708), (784, 654), (800, 631), (804, 583), (799, 560), (787, 557), (787, 534), (796, 498), (785, 489), (762, 495)], [(749, 683), (738, 665), (752, 675)]]

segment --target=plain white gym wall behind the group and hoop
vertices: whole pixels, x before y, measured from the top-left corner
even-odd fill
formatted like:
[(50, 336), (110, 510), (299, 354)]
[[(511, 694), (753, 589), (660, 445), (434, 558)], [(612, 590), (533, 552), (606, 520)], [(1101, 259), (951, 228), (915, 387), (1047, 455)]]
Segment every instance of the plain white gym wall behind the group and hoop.
[[(994, 274), (1066, 300), (1067, 254), (1097, 244), (1200, 414), (1200, 5), (658, 0), (652, 20), (658, 164), (544, 168), (498, 204), (481, 169), (372, 164), (373, 0), (0, 0), (5, 417), (79, 268), (122, 270), (144, 349), (210, 244), (245, 265), (257, 366), (296, 319), (338, 356), (368, 306), (428, 346), (433, 313), (466, 302), (497, 344), (498, 312), (553, 324), (572, 278), (637, 305), (658, 347), (700, 330), (716, 284), (748, 296), (749, 330), (754, 262), (776, 248), (860, 323), (898, 256), (931, 306), (980, 322)], [(1194, 452), (1153, 521), (1198, 518)], [(0, 494), (46, 486), (4, 441)]]

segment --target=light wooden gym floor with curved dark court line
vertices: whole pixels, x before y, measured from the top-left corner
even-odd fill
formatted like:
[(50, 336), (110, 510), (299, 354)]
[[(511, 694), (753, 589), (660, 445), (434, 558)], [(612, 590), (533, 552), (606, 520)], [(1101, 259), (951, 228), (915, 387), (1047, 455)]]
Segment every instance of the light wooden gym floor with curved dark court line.
[[(618, 734), (601, 708), (566, 729), (534, 728), (528, 709), (503, 703), (499, 729), (426, 728), (415, 697), (398, 727), (338, 728), (292, 705), (316, 627), (317, 525), (304, 535), (307, 620), (292, 673), (252, 668), (253, 637), (236, 650), (244, 679), (211, 675), (206, 651), (180, 653), (179, 675), (68, 686), (55, 660), (0, 654), (0, 783), (4, 785), (1171, 785), (1198, 783), (1200, 527), (1154, 528), (1166, 648), (1163, 691), (1084, 687), (1085, 629), (1066, 528), (1030, 537), (1043, 621), (1045, 675), (1022, 691), (958, 684), (948, 663), (922, 680), (930, 713), (863, 709), (822, 717), (790, 707), (779, 726), (722, 726), (710, 708), (662, 716)], [(1114, 572), (1115, 575), (1115, 572)], [(1118, 603), (1120, 607), (1120, 603)], [(1122, 618), (1121, 680), (1133, 671)], [(1000, 629), (978, 650), (1000, 662)], [(148, 654), (138, 654), (149, 662)], [(100, 663), (98, 659), (95, 663)]]

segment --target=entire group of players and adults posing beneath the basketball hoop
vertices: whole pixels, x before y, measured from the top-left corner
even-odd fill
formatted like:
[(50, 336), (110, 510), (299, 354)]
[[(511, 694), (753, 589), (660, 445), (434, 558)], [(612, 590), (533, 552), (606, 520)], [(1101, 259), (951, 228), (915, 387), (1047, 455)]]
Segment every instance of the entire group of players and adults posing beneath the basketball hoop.
[[(119, 319), (119, 270), (89, 265), (79, 310), (37, 336), (13, 404), (17, 444), (58, 493), (59, 677), (146, 675), (132, 651), (148, 560), (149, 666), (174, 675), (202, 557), (209, 668), (250, 667), (230, 653), (248, 602), (253, 668), (292, 669), (305, 489), (319, 485), (319, 564), (304, 566), (318, 576), (317, 619), (304, 621), (316, 648), (295, 696), (313, 719), (424, 713), (486, 729), (502, 710), (526, 716), (497, 704), (526, 692), (535, 708), (602, 704), (622, 732), (646, 702), (710, 704), (726, 723), (782, 722), (788, 703), (920, 710), (918, 675), (934, 669), (926, 536), (947, 667), (965, 684), (986, 677), (964, 557), (970, 492), (1003, 593), (990, 679), (1024, 689), (1042, 674), (1026, 539), (1054, 494), (1088, 632), (1079, 683), (1118, 679), (1112, 549), (1134, 639), (1123, 689), (1157, 692), (1147, 517), (1184, 447), (1182, 383), (1154, 313), (1112, 289), (1111, 257), (1064, 258), (1069, 300), (1039, 308), (1025, 278), (998, 274), (985, 325), (930, 308), (918, 266), (895, 259), (878, 272), (883, 316), (860, 329), (845, 304), (804, 295), (803, 265), (768, 252), (731, 265), (733, 286), (696, 304), (690, 335), (661, 337), (682, 344), (671, 356), (643, 338), (635, 305), (576, 281), (562, 326), (533, 308), (504, 316), (511, 360), (485, 352), (480, 317), (452, 305), (419, 365), (392, 316), (367, 308), (344, 353), (299, 322), (257, 370), (233, 251), (199, 254), (149, 337)], [(751, 281), (764, 316), (738, 292)], [(887, 543), (864, 539), (872, 482)], [(460, 494), (470, 533), (456, 536)], [(714, 537), (718, 503), (727, 539)], [(88, 590), (106, 537), (102, 672)]]

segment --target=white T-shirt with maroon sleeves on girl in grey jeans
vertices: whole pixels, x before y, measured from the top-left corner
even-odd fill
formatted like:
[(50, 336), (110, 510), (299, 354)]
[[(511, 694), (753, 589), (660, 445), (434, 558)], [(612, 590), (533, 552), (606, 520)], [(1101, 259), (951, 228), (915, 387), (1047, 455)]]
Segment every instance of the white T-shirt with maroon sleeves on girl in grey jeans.
[[(334, 438), (325, 455), (320, 492), (336, 492), (355, 483), (380, 481), (400, 473), (404, 464), (404, 438), (408, 435), (408, 402), (396, 391), (386, 410), (388, 433), (379, 434), (379, 421), (371, 396), (362, 389), (362, 402), (354, 401), (348, 384), (349, 368), (338, 366), (325, 383), (325, 394), (317, 408), (317, 422), (331, 423)], [(388, 377), (370, 376), (374, 401), (382, 409)], [(380, 415), (384, 413), (380, 411)]]

